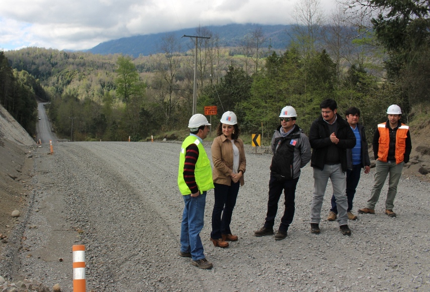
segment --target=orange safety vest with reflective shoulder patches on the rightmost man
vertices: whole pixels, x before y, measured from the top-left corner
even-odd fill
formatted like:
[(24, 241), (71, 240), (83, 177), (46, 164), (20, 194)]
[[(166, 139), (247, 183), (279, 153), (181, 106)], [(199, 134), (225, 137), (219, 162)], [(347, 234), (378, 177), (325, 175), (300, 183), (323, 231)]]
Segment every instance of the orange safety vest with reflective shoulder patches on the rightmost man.
[[(378, 160), (387, 162), (388, 149), (390, 148), (390, 129), (386, 127), (386, 123), (378, 124), (379, 130), (379, 149)], [(396, 131), (396, 164), (404, 160), (406, 152), (406, 137), (409, 131), (409, 126), (402, 124)]]

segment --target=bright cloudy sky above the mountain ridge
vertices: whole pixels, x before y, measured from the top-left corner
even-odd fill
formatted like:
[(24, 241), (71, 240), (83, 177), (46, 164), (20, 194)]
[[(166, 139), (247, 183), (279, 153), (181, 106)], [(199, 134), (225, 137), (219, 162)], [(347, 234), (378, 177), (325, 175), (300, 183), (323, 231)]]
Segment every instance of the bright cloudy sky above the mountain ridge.
[[(88, 49), (134, 35), (230, 23), (290, 24), (300, 0), (2, 0), (0, 49)], [(320, 0), (330, 11), (334, 0)]]

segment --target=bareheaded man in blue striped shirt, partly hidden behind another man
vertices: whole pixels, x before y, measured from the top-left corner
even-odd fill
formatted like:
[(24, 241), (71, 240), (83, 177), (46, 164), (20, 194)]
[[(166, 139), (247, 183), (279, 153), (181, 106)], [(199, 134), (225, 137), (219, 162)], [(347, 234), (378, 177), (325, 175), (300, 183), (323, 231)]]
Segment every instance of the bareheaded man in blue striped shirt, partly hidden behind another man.
[[(346, 150), (348, 167), (346, 171), (346, 197), (348, 200), (347, 214), (349, 220), (356, 220), (357, 216), (351, 212), (355, 189), (357, 188), (358, 181), (360, 180), (361, 169), (364, 168), (365, 174), (369, 173), (371, 162), (368, 153), (366, 134), (363, 126), (358, 123), (360, 119), (360, 110), (356, 107), (350, 107), (345, 112), (345, 116), (356, 139), (355, 147), (353, 149)], [(336, 198), (334, 196), (332, 196), (331, 202), (332, 208), (330, 209), (327, 220), (335, 221), (337, 218), (337, 206)]]

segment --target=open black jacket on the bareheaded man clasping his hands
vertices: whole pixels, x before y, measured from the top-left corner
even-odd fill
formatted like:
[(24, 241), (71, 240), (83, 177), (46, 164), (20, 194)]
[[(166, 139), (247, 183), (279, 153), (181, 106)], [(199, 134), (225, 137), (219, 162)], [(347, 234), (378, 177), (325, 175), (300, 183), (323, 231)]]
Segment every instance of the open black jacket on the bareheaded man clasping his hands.
[[(352, 132), (348, 122), (339, 114), (336, 115), (336, 123), (338, 123), (336, 136), (339, 139), (336, 148), (339, 151), (342, 171), (345, 172), (347, 170), (346, 149), (354, 148), (356, 141), (354, 132)], [(328, 148), (333, 144), (330, 140), (330, 135), (329, 126), (322, 116), (312, 123), (311, 130), (309, 131), (309, 142), (312, 147), (312, 167), (320, 170), (324, 169)]]

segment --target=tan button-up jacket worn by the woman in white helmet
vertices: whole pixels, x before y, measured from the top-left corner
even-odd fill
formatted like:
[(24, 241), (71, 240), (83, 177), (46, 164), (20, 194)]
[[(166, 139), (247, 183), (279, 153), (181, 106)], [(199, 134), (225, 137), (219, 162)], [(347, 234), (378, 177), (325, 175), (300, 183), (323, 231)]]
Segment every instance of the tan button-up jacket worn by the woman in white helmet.
[[(234, 140), (234, 144), (239, 150), (239, 169), (245, 173), (247, 168), (247, 158), (245, 158), (245, 150), (243, 149), (243, 141), (240, 138)], [(214, 183), (231, 185), (231, 176), (233, 172), (233, 145), (224, 135), (216, 137), (211, 147), (212, 162), (214, 169), (212, 170), (212, 178)], [(240, 185), (242, 186), (245, 181), (243, 175), (239, 179)]]

